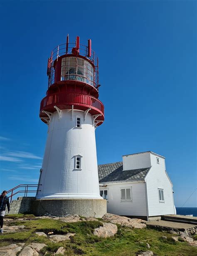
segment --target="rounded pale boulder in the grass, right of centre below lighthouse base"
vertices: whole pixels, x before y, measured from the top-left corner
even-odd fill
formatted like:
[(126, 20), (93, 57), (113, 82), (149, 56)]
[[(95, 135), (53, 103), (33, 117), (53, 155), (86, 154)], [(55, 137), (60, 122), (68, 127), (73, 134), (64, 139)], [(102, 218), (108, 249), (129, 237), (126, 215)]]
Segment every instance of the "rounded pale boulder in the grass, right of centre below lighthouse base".
[(115, 224), (112, 223), (103, 223), (103, 227), (100, 226), (99, 228), (94, 229), (94, 235), (98, 237), (111, 237), (114, 236), (118, 231), (118, 228)]

